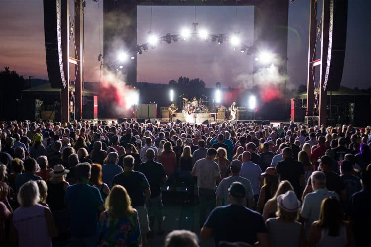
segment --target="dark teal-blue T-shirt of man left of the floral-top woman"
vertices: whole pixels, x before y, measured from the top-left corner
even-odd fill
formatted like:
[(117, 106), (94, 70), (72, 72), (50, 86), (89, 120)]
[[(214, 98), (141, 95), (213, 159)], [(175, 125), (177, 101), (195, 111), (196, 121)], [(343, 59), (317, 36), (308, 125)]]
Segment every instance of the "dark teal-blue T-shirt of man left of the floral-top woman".
[(98, 188), (74, 184), (67, 188), (64, 201), (71, 216), (71, 237), (85, 238), (98, 234), (97, 208), (103, 205)]

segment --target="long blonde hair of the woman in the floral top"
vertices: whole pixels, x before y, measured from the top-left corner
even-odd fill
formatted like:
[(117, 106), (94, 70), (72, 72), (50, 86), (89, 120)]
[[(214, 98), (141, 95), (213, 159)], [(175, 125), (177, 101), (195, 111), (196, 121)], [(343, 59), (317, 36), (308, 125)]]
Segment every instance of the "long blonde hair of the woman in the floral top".
[(113, 217), (129, 216), (134, 212), (131, 200), (126, 189), (121, 185), (112, 187), (104, 206)]

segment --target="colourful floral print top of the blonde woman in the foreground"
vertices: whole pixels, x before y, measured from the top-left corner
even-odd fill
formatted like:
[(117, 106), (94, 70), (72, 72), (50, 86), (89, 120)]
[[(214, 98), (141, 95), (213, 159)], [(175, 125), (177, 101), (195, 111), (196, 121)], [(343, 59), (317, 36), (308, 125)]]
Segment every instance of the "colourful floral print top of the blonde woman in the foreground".
[(99, 246), (142, 246), (139, 219), (135, 213), (128, 217), (114, 218), (105, 211), (100, 222)]

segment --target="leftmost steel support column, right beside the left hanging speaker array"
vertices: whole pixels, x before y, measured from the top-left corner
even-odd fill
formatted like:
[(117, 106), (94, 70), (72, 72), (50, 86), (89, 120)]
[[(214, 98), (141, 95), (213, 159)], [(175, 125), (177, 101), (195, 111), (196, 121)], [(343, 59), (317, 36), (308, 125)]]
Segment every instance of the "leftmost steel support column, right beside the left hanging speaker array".
[(60, 12), (61, 12), (61, 39), (62, 39), (62, 60), (63, 60), (63, 71), (64, 77), (66, 78), (67, 85), (62, 89), (61, 93), (61, 120), (62, 122), (70, 121), (70, 66), (69, 66), (69, 33), (70, 33), (70, 21), (69, 21), (69, 9), (68, 0), (61, 0)]

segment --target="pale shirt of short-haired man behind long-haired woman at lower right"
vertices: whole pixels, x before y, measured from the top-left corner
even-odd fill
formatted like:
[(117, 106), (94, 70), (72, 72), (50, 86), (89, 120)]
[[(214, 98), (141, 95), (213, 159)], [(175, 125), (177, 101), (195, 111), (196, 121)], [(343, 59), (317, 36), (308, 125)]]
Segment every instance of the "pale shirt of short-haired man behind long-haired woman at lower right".
[(307, 221), (305, 222), (305, 236), (307, 239), (312, 223), (318, 220), (318, 218), (320, 217), (321, 202), (324, 198), (327, 197), (336, 197), (339, 200), (339, 196), (336, 192), (329, 191), (326, 188), (317, 189), (312, 193), (308, 193), (304, 197), (300, 216), (307, 219)]

